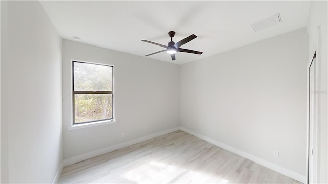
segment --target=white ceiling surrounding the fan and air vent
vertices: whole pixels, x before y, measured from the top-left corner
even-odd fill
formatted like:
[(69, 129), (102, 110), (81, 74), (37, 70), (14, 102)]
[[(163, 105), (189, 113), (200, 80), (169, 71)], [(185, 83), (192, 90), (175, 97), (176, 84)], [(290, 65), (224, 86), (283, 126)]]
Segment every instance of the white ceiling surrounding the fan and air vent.
[[(153, 59), (183, 64), (305, 27), (310, 1), (40, 1), (62, 38), (144, 56), (195, 34), (181, 48), (202, 55), (168, 53)], [(282, 24), (254, 32), (251, 24), (280, 13)]]

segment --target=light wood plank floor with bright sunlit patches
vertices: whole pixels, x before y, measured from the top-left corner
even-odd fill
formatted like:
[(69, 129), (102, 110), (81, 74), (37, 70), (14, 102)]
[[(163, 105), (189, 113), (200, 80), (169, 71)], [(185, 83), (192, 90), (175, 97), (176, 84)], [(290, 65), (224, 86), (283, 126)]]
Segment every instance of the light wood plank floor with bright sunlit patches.
[(67, 166), (59, 183), (299, 183), (175, 131)]

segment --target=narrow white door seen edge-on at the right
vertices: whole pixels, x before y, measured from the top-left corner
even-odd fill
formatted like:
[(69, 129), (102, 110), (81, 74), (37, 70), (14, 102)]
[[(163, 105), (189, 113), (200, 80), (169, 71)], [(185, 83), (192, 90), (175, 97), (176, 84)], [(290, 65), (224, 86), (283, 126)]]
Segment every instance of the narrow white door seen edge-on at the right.
[(316, 182), (316, 80), (316, 58), (314, 58), (309, 71), (309, 183)]

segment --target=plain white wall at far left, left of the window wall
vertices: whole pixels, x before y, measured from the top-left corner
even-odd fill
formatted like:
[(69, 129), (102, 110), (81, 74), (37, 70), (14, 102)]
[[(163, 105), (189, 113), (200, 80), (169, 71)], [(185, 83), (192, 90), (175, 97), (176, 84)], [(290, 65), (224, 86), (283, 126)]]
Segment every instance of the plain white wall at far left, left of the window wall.
[(10, 183), (50, 183), (62, 160), (61, 39), (38, 1), (9, 1), (6, 11), (8, 62), (1, 63), (6, 92), (1, 102), (8, 100), (1, 104), (1, 114), (7, 114), (7, 122), (1, 122), (8, 125), (5, 169)]

